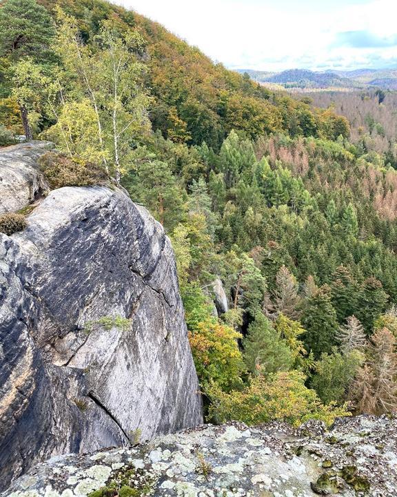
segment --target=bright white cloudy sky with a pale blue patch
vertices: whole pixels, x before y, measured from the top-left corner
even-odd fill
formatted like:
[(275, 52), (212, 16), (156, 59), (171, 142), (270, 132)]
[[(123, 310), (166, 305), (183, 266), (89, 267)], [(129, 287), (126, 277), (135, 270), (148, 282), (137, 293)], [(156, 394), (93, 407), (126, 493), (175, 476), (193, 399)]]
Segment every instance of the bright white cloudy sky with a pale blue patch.
[(231, 69), (397, 68), (397, 0), (113, 0)]

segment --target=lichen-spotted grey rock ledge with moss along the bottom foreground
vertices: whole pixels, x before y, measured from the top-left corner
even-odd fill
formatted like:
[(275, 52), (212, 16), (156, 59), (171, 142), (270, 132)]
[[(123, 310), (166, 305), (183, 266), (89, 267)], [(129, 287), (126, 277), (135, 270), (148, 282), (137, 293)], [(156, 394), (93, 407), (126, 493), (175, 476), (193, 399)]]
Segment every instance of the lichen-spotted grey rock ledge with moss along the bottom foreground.
[[(135, 468), (153, 496), (396, 496), (397, 422), (359, 416), (325, 431), (307, 422), (248, 428), (206, 425), (146, 445), (52, 458), (3, 496), (83, 497)], [(146, 487), (147, 488), (147, 487)]]

